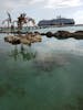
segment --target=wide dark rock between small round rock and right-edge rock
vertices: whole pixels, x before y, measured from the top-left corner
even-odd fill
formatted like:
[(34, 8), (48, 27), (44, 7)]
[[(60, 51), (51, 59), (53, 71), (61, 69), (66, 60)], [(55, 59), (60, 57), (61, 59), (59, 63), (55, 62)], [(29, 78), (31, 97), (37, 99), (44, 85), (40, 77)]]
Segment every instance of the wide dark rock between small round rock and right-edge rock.
[(53, 34), (53, 36), (58, 38), (69, 38), (72, 37), (72, 33), (68, 31), (58, 31), (56, 33)]

